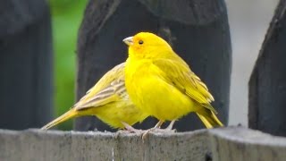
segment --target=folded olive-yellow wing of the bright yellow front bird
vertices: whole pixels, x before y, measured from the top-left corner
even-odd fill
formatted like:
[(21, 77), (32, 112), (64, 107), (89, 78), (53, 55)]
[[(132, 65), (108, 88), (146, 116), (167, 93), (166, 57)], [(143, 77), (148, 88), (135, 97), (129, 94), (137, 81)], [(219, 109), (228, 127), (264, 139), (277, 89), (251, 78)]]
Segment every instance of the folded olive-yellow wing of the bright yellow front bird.
[(190, 71), (189, 65), (180, 57), (175, 60), (156, 59), (153, 64), (156, 68), (155, 71), (160, 72), (159, 75), (169, 84), (217, 114), (210, 104), (214, 101), (214, 97), (208, 91), (206, 84), (194, 72)]

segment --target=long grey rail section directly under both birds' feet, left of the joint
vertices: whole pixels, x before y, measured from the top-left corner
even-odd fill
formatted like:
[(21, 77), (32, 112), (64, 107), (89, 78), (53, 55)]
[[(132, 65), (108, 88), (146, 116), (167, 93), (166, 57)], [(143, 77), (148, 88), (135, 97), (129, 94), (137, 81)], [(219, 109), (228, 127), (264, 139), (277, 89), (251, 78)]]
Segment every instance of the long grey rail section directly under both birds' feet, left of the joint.
[(0, 160), (204, 160), (206, 131), (136, 134), (0, 131)]

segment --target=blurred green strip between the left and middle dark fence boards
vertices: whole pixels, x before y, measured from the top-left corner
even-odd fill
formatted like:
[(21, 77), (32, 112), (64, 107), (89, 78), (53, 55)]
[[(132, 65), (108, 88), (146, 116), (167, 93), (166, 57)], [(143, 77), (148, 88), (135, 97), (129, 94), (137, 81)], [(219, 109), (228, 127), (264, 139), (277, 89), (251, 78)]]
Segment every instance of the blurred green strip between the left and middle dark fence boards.
[[(49, 0), (49, 4), (55, 53), (55, 117), (74, 104), (77, 35), (87, 0)], [(58, 129), (71, 127), (72, 120), (61, 123)]]

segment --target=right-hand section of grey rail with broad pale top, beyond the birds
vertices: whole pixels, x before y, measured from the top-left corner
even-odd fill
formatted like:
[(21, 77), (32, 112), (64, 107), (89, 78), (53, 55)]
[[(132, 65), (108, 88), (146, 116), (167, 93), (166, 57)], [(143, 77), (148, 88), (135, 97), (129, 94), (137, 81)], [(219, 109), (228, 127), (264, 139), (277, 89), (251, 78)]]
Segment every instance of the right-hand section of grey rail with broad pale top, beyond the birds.
[(225, 128), (210, 131), (214, 161), (285, 160), (286, 139), (261, 131)]

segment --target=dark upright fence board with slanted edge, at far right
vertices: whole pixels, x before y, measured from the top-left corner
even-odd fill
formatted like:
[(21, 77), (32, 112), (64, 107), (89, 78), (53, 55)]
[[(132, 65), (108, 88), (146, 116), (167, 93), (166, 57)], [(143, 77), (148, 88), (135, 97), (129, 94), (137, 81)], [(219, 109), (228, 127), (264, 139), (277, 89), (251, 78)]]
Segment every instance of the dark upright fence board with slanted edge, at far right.
[(277, 5), (249, 80), (249, 127), (286, 136), (286, 0)]

